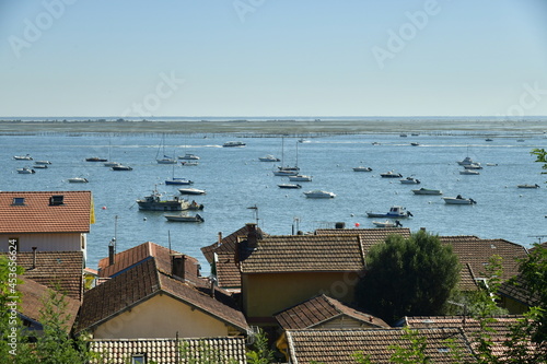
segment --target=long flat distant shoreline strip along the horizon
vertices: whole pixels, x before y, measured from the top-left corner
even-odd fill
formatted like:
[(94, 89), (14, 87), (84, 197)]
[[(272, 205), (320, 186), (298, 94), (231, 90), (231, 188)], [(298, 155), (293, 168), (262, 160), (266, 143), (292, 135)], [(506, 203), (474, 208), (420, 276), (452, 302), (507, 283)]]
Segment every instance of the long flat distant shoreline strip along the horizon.
[(405, 118), (387, 120), (226, 120), (226, 121), (0, 121), (0, 133), (256, 133), (336, 134), (461, 131), (477, 134), (545, 133), (546, 120), (494, 121)]

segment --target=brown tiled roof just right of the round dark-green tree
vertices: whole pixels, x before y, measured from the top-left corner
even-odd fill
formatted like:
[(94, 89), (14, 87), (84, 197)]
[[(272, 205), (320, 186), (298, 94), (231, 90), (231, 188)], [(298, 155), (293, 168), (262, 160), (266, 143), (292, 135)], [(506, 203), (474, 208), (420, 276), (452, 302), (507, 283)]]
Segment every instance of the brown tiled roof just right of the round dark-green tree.
[(525, 258), (525, 247), (504, 239), (480, 239), (476, 236), (439, 236), (441, 243), (452, 245), (461, 265), (469, 265), (475, 277), (485, 277), (486, 265), (493, 255), (502, 258), (503, 279), (519, 273), (516, 259)]

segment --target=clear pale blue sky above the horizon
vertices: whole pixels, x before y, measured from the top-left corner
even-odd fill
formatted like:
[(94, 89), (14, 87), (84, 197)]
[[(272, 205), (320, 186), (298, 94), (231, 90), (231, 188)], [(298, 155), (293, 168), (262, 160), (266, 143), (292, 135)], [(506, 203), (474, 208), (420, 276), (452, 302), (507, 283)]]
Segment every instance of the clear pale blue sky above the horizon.
[(0, 0), (0, 117), (545, 115), (545, 0)]

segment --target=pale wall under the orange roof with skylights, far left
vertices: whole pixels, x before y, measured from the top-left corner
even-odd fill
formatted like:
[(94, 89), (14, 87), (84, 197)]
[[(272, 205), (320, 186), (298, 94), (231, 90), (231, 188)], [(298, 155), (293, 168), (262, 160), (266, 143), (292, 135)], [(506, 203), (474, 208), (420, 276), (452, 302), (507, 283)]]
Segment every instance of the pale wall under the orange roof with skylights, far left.
[(0, 234), (0, 251), (8, 251), (10, 238), (19, 238), (19, 251), (33, 251), (33, 246), (38, 251), (85, 251), (88, 246), (81, 233)]

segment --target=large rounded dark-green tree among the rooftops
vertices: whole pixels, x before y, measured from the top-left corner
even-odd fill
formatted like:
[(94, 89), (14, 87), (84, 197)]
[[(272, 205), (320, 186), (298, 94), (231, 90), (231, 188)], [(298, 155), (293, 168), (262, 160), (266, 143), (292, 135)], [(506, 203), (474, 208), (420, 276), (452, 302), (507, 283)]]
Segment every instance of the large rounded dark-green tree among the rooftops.
[(356, 286), (358, 304), (393, 322), (407, 316), (442, 315), (459, 279), (457, 256), (424, 231), (391, 235), (373, 246)]

